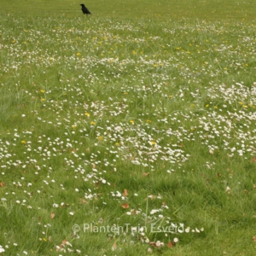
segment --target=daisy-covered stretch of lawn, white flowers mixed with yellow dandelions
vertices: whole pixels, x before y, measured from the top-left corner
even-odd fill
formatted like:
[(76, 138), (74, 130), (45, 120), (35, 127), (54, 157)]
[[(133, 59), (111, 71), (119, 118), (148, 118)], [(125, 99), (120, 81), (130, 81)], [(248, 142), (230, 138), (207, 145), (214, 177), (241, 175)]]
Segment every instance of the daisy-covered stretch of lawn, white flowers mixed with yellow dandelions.
[[(79, 214), (77, 199), (97, 209), (119, 205), (133, 221), (168, 225), (162, 195), (148, 189), (159, 203), (148, 212), (131, 209), (119, 173), (187, 172), (193, 145), (226, 159), (255, 156), (255, 25), (172, 21), (3, 16), (0, 207), (6, 216), (17, 208), (49, 211), (54, 219), (61, 209), (70, 219)], [(215, 163), (201, 158), (201, 165)], [(63, 202), (66, 191), (72, 197)], [(44, 209), (35, 198), (47, 201)], [(38, 247), (55, 239), (51, 224), (36, 229)], [(136, 241), (164, 247), (143, 231), (134, 230)], [(18, 239), (7, 232), (0, 253)], [(57, 252), (81, 253), (67, 239), (56, 243)]]

